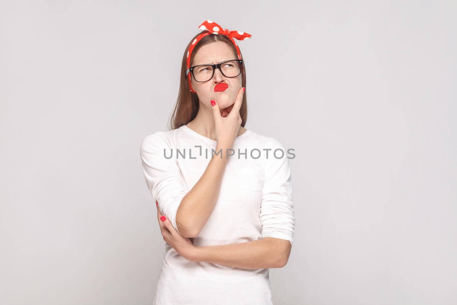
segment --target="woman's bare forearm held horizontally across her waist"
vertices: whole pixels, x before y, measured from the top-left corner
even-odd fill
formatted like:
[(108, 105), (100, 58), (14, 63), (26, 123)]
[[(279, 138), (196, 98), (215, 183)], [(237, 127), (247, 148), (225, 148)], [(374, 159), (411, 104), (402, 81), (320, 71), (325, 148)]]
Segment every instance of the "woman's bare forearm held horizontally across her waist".
[(194, 262), (211, 262), (244, 269), (281, 268), (282, 257), (271, 238), (220, 246), (195, 246)]

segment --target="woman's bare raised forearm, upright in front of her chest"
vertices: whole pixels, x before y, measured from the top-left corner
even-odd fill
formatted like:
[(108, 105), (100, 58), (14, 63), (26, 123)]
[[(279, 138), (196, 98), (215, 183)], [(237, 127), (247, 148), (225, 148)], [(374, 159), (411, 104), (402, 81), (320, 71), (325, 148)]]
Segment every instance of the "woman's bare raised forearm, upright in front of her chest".
[[(189, 193), (184, 196), (176, 212), (176, 225), (178, 230), (186, 237), (198, 235), (206, 224), (209, 216), (213, 213), (222, 183), (228, 145), (217, 144), (215, 152), (222, 149), (221, 154), (213, 156), (209, 161), (202, 177), (192, 187)], [(211, 151), (212, 152), (212, 151)], [(211, 152), (208, 154), (211, 156)]]

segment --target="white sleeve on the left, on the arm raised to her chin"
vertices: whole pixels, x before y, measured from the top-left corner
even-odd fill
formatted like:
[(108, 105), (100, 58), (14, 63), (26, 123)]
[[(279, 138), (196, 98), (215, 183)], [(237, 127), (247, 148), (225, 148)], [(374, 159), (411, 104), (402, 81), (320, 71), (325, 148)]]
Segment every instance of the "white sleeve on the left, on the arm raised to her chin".
[(170, 156), (171, 149), (165, 132), (158, 131), (143, 139), (140, 156), (144, 178), (154, 201), (157, 200), (160, 212), (170, 219), (171, 224), (178, 230), (176, 212), (188, 190), (175, 156), (165, 158), (165, 155)]

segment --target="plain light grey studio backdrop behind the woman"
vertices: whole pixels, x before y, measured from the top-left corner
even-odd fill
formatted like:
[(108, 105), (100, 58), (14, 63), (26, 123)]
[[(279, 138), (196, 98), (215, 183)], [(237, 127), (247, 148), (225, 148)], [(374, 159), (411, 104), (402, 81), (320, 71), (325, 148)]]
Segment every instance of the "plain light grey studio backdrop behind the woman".
[(0, 303), (152, 304), (165, 242), (139, 147), (211, 19), (252, 35), (245, 127), (296, 154), (273, 303), (456, 304), (456, 9), (2, 1)]

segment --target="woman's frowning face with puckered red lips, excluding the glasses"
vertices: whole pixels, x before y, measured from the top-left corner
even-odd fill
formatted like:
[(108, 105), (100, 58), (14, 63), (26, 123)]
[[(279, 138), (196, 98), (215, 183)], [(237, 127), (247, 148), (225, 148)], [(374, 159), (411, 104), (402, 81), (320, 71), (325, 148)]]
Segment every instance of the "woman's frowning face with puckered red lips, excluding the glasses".
[[(238, 56), (234, 54), (227, 43), (218, 41), (206, 44), (198, 49), (191, 66), (218, 64), (230, 59), (238, 59)], [(191, 76), (191, 84), (197, 92), (200, 102), (211, 108), (211, 100), (215, 100), (218, 102), (219, 109), (222, 110), (234, 104), (238, 91), (241, 89), (241, 75), (225, 77), (219, 69), (216, 69), (213, 77), (205, 82), (197, 82)], [(215, 92), (214, 87), (220, 83), (227, 84), (228, 88), (221, 92)]]

